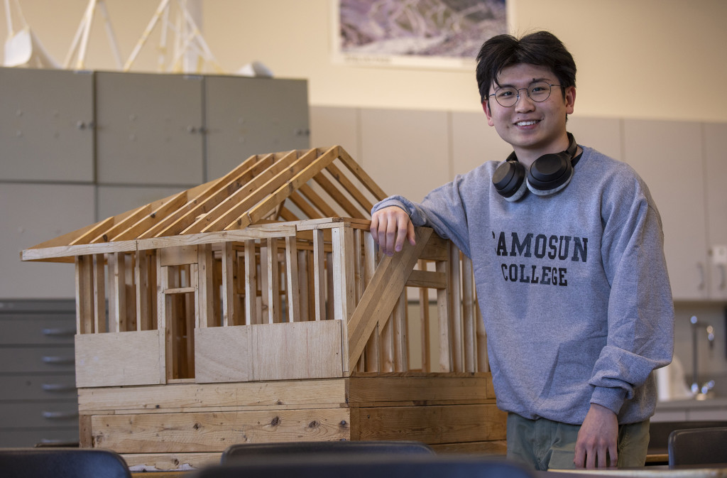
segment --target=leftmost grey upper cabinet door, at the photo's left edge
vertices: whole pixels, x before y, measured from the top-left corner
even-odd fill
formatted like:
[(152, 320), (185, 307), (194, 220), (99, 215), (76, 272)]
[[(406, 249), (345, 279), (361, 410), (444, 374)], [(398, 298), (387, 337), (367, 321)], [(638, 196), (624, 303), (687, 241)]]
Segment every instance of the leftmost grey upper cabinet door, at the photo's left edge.
[(0, 68), (0, 180), (94, 180), (93, 75)]

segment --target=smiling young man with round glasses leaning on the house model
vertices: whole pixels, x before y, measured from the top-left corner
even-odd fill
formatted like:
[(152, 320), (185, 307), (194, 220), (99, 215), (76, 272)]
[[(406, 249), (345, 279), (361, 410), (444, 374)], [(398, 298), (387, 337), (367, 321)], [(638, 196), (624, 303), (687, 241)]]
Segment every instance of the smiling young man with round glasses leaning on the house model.
[(509, 458), (536, 469), (643, 466), (651, 371), (673, 348), (662, 224), (631, 167), (566, 132), (575, 73), (551, 33), (486, 41), (482, 106), (513, 154), (421, 204), (376, 204), (371, 234), (391, 255), (429, 226), (473, 260)]

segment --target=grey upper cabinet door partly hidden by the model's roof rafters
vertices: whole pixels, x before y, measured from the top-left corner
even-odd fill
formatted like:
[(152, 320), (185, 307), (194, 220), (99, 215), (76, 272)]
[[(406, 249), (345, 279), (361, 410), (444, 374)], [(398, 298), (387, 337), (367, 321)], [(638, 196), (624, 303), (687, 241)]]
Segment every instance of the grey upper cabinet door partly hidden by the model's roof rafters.
[(310, 147), (305, 80), (206, 76), (207, 178), (252, 154)]

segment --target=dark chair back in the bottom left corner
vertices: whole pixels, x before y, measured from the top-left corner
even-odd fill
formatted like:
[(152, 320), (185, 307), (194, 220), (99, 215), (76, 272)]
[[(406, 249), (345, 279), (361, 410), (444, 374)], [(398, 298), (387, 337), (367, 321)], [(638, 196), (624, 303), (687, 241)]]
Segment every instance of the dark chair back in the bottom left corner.
[(0, 448), (3, 478), (131, 478), (126, 461), (99, 448)]

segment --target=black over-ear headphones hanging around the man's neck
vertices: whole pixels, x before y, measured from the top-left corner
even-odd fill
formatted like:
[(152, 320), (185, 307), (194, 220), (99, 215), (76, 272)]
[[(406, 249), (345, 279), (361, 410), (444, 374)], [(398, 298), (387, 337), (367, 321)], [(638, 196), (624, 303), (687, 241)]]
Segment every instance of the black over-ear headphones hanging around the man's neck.
[(571, 133), (568, 133), (568, 140), (566, 151), (544, 154), (528, 170), (513, 151), (492, 175), (492, 183), (500, 196), (515, 202), (525, 196), (527, 190), (538, 196), (550, 196), (568, 186), (573, 178), (573, 167), (578, 162), (575, 158), (578, 144)]

